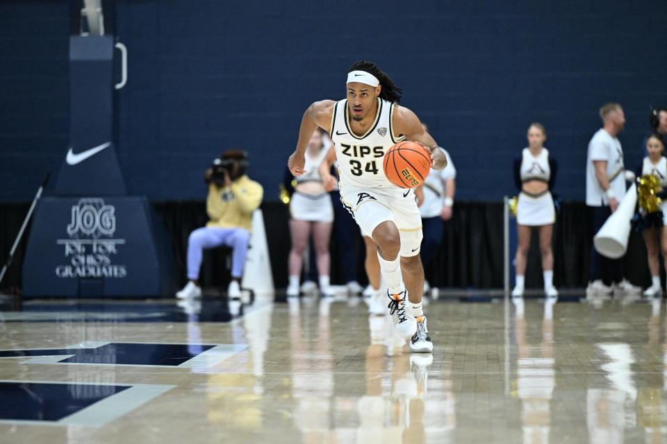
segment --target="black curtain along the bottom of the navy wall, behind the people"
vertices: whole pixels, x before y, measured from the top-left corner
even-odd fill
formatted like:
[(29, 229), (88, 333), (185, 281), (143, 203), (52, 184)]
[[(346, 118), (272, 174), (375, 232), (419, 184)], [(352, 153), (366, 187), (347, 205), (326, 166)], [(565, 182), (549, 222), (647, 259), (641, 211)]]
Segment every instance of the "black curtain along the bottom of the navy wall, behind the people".
[[(0, 203), (0, 257), (8, 257), (10, 248), (28, 211), (29, 203)], [(186, 252), (192, 230), (206, 224), (204, 201), (154, 203), (158, 220), (162, 221), (171, 239), (179, 284), (186, 282)], [(287, 255), (290, 249), (289, 212), (285, 205), (267, 202), (262, 205), (274, 284), (287, 285)], [(444, 225), (444, 242), (440, 255), (426, 267), (431, 285), (451, 288), (502, 288), (502, 203), (457, 202), (452, 221)], [(511, 223), (516, 223), (511, 219)], [(13, 264), (0, 284), (5, 291), (17, 291), (21, 284), (21, 268), (28, 238), (26, 230)], [(358, 230), (350, 235), (356, 238), (357, 276), (365, 285), (363, 271), (365, 255)], [(561, 206), (554, 227), (554, 283), (559, 288), (582, 288), (588, 281), (588, 257), (593, 237), (592, 214), (583, 203), (566, 202)], [(229, 282), (230, 250), (216, 248), (204, 253), (200, 281), (204, 287), (224, 287)], [(513, 252), (511, 252), (513, 256)], [(646, 253), (640, 234), (632, 233), (624, 259), (625, 275), (636, 285), (646, 287), (650, 275)], [(537, 233), (532, 236), (528, 257), (526, 285), (542, 287), (540, 252)], [(336, 244), (331, 245), (331, 282), (340, 282), (341, 265)], [(513, 273), (513, 270), (512, 270)]]

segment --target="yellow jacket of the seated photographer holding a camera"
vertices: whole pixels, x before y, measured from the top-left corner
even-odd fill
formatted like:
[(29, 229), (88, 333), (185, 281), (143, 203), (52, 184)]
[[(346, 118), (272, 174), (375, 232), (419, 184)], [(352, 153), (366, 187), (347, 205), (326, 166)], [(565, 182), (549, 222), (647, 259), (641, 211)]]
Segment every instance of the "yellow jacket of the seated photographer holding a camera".
[(211, 182), (208, 185), (206, 212), (211, 221), (206, 224), (212, 228), (252, 229), (252, 212), (262, 203), (264, 189), (248, 176), (234, 180), (229, 187), (218, 187)]

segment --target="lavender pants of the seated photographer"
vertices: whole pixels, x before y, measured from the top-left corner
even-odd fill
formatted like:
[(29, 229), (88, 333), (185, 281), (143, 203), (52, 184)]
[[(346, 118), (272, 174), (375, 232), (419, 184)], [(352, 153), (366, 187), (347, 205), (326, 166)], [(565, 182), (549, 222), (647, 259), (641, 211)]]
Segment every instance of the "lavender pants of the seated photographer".
[(245, 256), (248, 253), (250, 233), (245, 228), (197, 228), (188, 239), (188, 279), (199, 279), (199, 267), (204, 248), (225, 245), (233, 248), (231, 256), (231, 277), (243, 275)]

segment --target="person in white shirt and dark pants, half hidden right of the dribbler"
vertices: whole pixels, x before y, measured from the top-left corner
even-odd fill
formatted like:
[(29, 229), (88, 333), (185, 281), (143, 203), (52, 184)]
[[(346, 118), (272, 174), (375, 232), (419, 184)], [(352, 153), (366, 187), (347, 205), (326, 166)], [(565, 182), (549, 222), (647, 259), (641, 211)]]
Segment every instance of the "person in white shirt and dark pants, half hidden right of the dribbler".
[[(425, 123), (422, 123), (425, 131), (428, 131)], [(424, 268), (427, 268), (438, 255), (438, 250), (443, 244), (443, 222), (452, 219), (452, 208), (454, 206), (454, 193), (456, 192), (456, 168), (452, 157), (447, 150), (440, 148), (447, 157), (447, 167), (443, 170), (431, 169), (422, 185), (424, 199), (419, 207), (422, 215), (422, 249), (420, 256)], [(424, 280), (424, 293), (431, 292), (436, 298), (437, 292), (431, 291), (427, 280)]]

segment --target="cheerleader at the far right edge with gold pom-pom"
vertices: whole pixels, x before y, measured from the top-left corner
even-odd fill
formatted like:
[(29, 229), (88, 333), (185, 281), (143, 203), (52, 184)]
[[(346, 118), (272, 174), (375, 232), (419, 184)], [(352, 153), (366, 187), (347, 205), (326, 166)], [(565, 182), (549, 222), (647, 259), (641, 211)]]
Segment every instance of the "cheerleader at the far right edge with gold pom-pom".
[[(643, 212), (643, 237), (648, 253), (648, 269), (651, 272), (651, 287), (644, 291), (644, 296), (654, 297), (662, 295), (660, 286), (660, 270), (658, 263), (658, 237), (660, 236), (660, 249), (662, 257), (667, 257), (667, 158), (664, 157), (665, 142), (659, 133), (651, 133), (646, 139), (646, 153), (641, 162), (641, 168), (637, 169), (639, 176), (652, 174), (660, 182), (660, 191), (657, 196), (663, 199), (660, 210), (646, 214)], [(638, 177), (639, 177), (638, 176)], [(667, 262), (665, 262), (667, 266)]]

